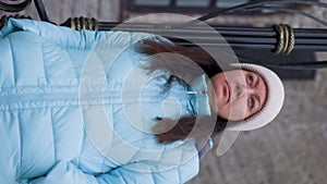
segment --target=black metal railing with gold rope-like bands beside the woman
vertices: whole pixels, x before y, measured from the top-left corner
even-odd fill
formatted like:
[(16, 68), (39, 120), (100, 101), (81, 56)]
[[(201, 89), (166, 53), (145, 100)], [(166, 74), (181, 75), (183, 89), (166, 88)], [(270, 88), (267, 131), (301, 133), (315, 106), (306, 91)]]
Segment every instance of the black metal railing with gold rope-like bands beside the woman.
[[(16, 4), (8, 4), (0, 1), (0, 10), (8, 12), (19, 12), (29, 5), (32, 0), (25, 0)], [(43, 0), (34, 0), (34, 4), (41, 21), (50, 22)], [(281, 8), (280, 4), (305, 4), (305, 5), (318, 5), (327, 8), (327, 3), (318, 1), (302, 1), (302, 0), (283, 0), (283, 1), (262, 1), (244, 3), (241, 5), (223, 9), (217, 12), (211, 12), (204, 16), (198, 17), (195, 21), (180, 24), (124, 24), (120, 26), (121, 30), (130, 32), (150, 32), (154, 34), (162, 34), (165, 32), (177, 32), (175, 34), (184, 34), (192, 37), (192, 40), (196, 40), (197, 45), (204, 45), (209, 47), (228, 47), (242, 48), (242, 49), (265, 49), (270, 50), (276, 54), (289, 54), (292, 50), (310, 50), (310, 51), (327, 51), (327, 29), (315, 28), (291, 28), (286, 24), (275, 24), (271, 27), (244, 27), (244, 26), (221, 26), (210, 25), (218, 30), (227, 42), (211, 42), (213, 36), (204, 27), (196, 24), (196, 21), (208, 21), (216, 16), (231, 14), (234, 12), (246, 13), (257, 10), (275, 10), (281, 12), (291, 12), (299, 15), (316, 21), (319, 24), (327, 26), (327, 22), (315, 17), (305, 12)], [(26, 16), (17, 16), (26, 19)], [(0, 24), (5, 24), (8, 16), (1, 17)], [(55, 24), (55, 23), (53, 23)], [(117, 27), (121, 23), (119, 22), (97, 22), (93, 17), (70, 17), (62, 26), (68, 26), (73, 29), (92, 29), (92, 30), (110, 30)], [(1, 25), (0, 25), (1, 26)], [(173, 39), (173, 38), (172, 38)], [(175, 42), (184, 46), (193, 46), (192, 42), (182, 39), (174, 39)], [(278, 68), (292, 68), (292, 69), (320, 69), (327, 66), (327, 61), (305, 61), (305, 62), (274, 62), (266, 63), (267, 65), (274, 65)]]

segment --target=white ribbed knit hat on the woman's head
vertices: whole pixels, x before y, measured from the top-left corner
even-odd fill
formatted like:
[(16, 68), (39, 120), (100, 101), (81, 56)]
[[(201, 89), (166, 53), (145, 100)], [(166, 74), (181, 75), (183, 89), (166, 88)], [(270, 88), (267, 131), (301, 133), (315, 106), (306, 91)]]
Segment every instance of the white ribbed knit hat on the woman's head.
[(280, 78), (269, 69), (256, 64), (233, 63), (231, 66), (259, 74), (264, 78), (268, 90), (267, 100), (258, 112), (243, 121), (228, 123), (226, 128), (228, 131), (251, 131), (271, 122), (281, 110), (284, 100), (284, 89)]

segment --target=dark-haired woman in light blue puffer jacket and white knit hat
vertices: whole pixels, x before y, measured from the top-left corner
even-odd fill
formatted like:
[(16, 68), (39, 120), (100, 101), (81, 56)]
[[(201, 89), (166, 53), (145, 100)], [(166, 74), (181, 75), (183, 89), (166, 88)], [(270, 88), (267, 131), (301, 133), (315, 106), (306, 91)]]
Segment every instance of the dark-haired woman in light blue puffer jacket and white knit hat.
[(0, 183), (184, 183), (210, 136), (283, 102), (271, 71), (221, 73), (149, 34), (10, 20), (0, 36)]

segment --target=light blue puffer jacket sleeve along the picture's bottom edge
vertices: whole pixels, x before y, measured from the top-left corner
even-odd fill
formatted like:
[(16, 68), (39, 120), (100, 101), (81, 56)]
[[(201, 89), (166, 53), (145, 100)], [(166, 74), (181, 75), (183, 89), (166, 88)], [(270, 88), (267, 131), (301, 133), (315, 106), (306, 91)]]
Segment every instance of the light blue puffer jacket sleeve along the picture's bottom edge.
[[(73, 162), (59, 162), (46, 176), (32, 180), (29, 184), (180, 184), (198, 173), (198, 159), (193, 157), (182, 165), (162, 172), (149, 172), (158, 169), (153, 162), (135, 162), (119, 167), (108, 173), (86, 174)], [(137, 168), (137, 169), (136, 169)], [(144, 170), (147, 171), (144, 171)]]

